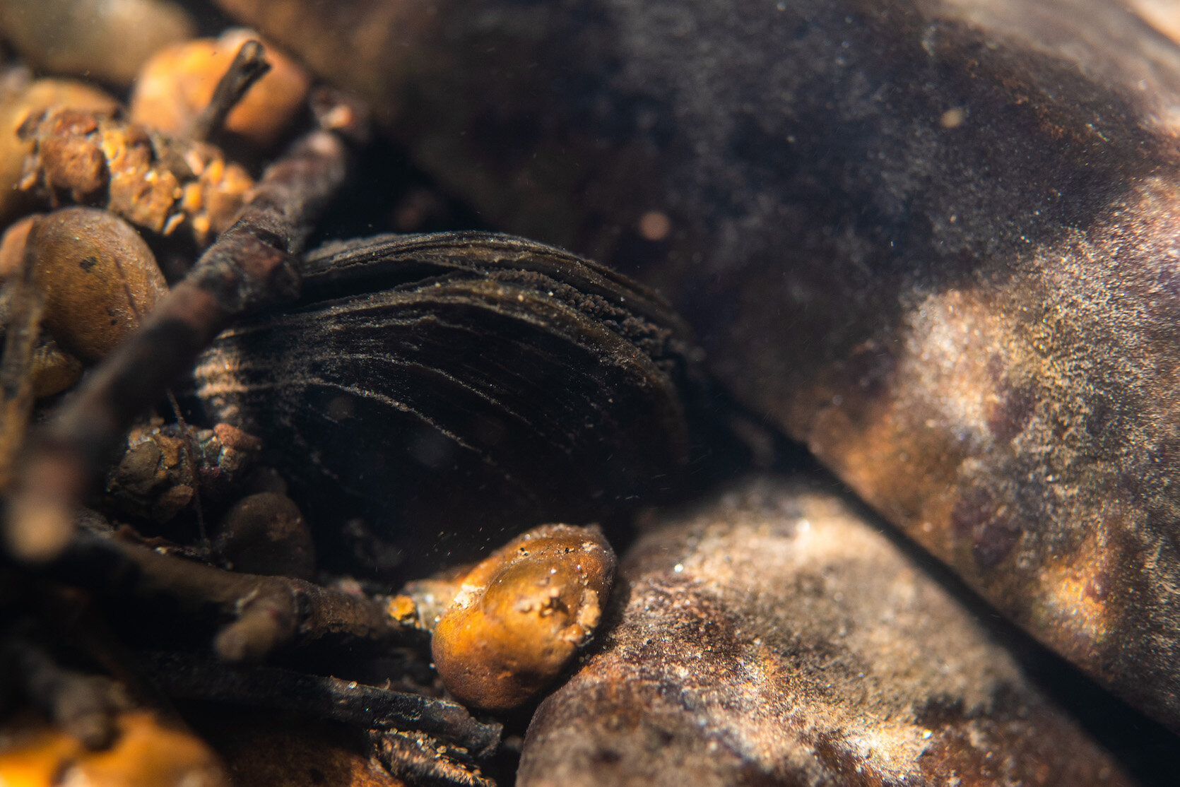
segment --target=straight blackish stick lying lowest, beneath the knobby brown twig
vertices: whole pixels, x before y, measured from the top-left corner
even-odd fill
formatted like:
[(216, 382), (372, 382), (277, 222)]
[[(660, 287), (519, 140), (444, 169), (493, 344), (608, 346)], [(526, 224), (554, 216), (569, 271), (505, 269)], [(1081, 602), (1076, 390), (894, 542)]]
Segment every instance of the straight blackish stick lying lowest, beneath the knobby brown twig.
[(143, 661), (152, 680), (176, 699), (290, 710), (365, 729), (419, 730), (477, 759), (491, 755), (500, 741), (499, 724), (477, 721), (460, 704), (420, 694), (273, 667), (235, 667), (188, 654), (151, 654)]

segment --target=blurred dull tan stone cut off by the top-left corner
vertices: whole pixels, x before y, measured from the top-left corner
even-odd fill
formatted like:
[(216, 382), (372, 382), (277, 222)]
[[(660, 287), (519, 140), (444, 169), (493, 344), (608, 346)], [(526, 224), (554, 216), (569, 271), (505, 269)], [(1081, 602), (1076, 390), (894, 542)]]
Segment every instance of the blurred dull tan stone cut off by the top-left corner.
[(159, 48), (196, 33), (172, 0), (0, 0), (0, 29), (44, 71), (124, 87)]

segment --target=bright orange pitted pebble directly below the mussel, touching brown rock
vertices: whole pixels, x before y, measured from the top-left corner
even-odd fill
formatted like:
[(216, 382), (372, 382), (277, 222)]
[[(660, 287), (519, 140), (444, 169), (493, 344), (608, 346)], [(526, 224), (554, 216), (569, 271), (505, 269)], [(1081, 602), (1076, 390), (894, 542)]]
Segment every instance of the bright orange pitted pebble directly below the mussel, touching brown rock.
[(590, 641), (615, 578), (597, 529), (543, 525), (477, 565), (434, 629), (439, 677), (460, 702), (516, 708)]

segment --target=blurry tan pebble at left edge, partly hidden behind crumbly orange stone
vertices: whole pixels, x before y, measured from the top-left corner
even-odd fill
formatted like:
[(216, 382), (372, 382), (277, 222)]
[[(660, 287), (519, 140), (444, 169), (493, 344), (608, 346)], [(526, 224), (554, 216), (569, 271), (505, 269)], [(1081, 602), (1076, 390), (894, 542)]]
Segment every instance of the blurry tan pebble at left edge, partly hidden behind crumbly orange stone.
[(57, 106), (110, 113), (119, 103), (97, 87), (67, 79), (38, 79), (6, 96), (0, 101), (0, 219), (33, 202), (17, 186), (34, 145), (17, 130), (30, 117)]

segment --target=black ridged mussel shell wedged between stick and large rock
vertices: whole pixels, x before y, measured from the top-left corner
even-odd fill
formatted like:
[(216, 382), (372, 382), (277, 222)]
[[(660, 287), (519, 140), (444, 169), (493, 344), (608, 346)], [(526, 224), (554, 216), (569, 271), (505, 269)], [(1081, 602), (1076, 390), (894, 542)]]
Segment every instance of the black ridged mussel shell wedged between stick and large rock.
[(697, 350), (601, 265), (503, 235), (384, 236), (313, 251), (303, 293), (223, 333), (196, 386), (320, 527), (360, 517), (466, 557), (671, 488), (688, 460)]

